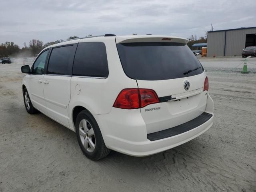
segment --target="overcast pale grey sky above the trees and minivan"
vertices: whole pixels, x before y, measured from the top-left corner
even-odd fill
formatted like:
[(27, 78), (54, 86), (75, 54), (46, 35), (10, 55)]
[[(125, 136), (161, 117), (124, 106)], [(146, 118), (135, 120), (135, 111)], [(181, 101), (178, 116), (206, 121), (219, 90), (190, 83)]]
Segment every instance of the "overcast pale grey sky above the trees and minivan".
[(209, 31), (256, 26), (255, 0), (0, 0), (0, 43), (21, 47), (88, 34), (198, 38)]

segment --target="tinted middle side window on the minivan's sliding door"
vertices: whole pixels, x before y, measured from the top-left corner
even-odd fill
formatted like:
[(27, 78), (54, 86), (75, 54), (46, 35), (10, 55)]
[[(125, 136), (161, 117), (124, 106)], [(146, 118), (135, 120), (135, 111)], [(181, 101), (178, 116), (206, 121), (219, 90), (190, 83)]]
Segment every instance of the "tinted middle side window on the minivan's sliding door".
[(52, 49), (47, 74), (71, 75), (74, 59), (74, 46), (64, 46)]

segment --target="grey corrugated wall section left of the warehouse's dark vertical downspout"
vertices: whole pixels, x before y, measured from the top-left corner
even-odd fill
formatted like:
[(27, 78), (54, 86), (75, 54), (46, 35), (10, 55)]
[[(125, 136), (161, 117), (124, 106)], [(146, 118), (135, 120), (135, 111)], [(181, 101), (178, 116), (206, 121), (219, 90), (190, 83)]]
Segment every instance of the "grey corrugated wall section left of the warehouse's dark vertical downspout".
[(225, 31), (209, 32), (207, 38), (207, 56), (224, 55)]

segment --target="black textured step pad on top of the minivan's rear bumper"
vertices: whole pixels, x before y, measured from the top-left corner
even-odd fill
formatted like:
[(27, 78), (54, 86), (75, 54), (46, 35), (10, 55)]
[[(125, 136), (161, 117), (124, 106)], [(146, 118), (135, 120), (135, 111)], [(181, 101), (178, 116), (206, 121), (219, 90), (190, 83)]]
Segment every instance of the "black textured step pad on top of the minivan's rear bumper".
[(182, 134), (184, 132), (187, 132), (189, 130), (192, 130), (192, 129), (204, 124), (211, 117), (212, 117), (212, 114), (203, 112), (200, 116), (198, 116), (184, 124), (181, 124), (181, 125), (178, 125), (178, 126), (166, 129), (166, 130), (147, 134), (148, 140), (156, 141), (156, 140), (172, 137), (172, 136), (175, 136), (178, 134)]

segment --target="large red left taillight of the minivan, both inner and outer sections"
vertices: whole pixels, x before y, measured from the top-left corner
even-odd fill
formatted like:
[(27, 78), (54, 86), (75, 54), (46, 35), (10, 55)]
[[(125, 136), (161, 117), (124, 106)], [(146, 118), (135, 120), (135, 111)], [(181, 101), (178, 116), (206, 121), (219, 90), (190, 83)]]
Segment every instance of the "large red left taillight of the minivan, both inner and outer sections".
[(158, 102), (159, 99), (154, 90), (128, 88), (123, 89), (118, 94), (113, 107), (121, 109), (137, 109)]

